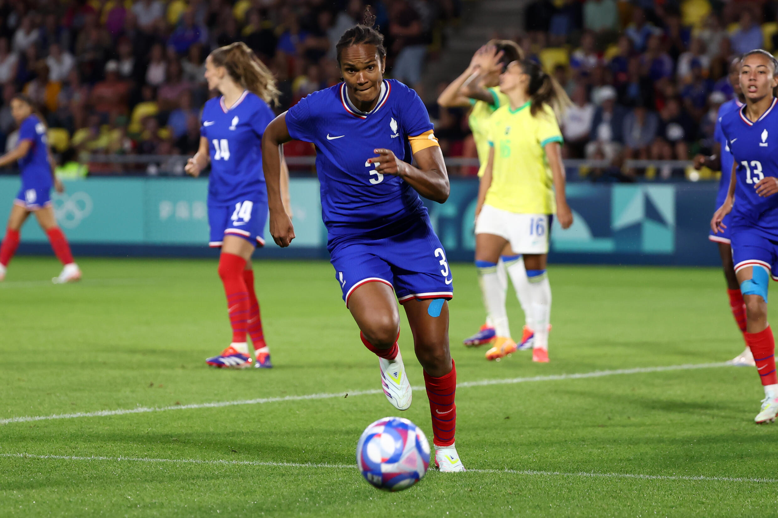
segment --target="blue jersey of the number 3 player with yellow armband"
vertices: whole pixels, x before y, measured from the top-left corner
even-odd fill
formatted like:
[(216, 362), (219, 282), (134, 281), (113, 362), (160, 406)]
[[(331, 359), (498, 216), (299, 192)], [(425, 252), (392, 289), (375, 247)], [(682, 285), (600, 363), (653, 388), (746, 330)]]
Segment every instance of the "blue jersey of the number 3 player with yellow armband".
[(419, 194), (399, 176), (382, 175), (376, 148), (411, 162), (408, 137), (432, 130), (427, 110), (412, 89), (385, 79), (370, 113), (356, 110), (345, 83), (314, 92), (286, 113), (289, 136), (316, 145), (321, 211), (330, 236), (357, 234), (426, 215)]

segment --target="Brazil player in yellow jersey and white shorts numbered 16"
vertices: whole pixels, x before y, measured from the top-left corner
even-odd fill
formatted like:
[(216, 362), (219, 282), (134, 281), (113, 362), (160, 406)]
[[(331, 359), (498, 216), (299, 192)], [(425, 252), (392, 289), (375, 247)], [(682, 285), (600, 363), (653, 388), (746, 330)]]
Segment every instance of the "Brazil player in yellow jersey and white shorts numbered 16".
[[(548, 362), (551, 287), (545, 265), (552, 214), (559, 217), (562, 228), (573, 224), (557, 123), (570, 99), (554, 78), (529, 60), (507, 64), (499, 76), (499, 89), (509, 103), (489, 117), (489, 160), (475, 209), (475, 264), (489, 314), (495, 314), (500, 311), (494, 307), (499, 298), (494, 294), (500, 290), (499, 254), (510, 244), (513, 252), (524, 255), (527, 305), (534, 326), (532, 360)], [(515, 350), (510, 337), (497, 329), (486, 358), (496, 360)]]

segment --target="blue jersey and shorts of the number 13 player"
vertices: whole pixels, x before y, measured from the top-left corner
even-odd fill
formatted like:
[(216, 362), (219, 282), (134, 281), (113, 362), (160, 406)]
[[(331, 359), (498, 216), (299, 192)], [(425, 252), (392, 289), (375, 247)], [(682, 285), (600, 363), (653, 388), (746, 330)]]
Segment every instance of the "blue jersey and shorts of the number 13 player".
[(745, 106), (721, 117), (721, 132), (732, 151), (735, 169), (730, 235), (734, 269), (762, 266), (778, 274), (778, 194), (762, 197), (759, 180), (778, 176), (778, 99), (752, 122)]

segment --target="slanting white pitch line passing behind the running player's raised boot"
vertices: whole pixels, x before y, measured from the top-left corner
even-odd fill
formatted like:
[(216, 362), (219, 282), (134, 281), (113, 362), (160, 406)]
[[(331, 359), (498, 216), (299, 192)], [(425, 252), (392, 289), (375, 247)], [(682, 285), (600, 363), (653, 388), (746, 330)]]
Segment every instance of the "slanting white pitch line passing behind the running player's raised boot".
[[(615, 376), (616, 374), (643, 374), (643, 373), (651, 373), (651, 372), (665, 372), (668, 370), (710, 369), (713, 367), (727, 367), (727, 366), (728, 366), (727, 363), (720, 362), (720, 363), (688, 363), (685, 365), (668, 365), (665, 367), (638, 367), (635, 369), (594, 370), (593, 372), (585, 372), (580, 374), (550, 374), (548, 376), (510, 377), (510, 378), (499, 379), (499, 380), (463, 381), (462, 383), (457, 384), (457, 388), (483, 387), (485, 385), (526, 383), (529, 381), (580, 380), (587, 377)], [(424, 391), (426, 389), (424, 387), (413, 387), (413, 390)], [(305, 401), (307, 399), (344, 398), (346, 395), (353, 397), (359, 395), (383, 394), (383, 392), (384, 391), (380, 389), (372, 389), (366, 391), (344, 391), (344, 392), (329, 392), (329, 393), (325, 392), (321, 394), (284, 396), (282, 398), (238, 399), (236, 401), (193, 403), (191, 405), (172, 405), (172, 406), (161, 406), (161, 407), (138, 406), (137, 408), (118, 408), (117, 410), (99, 410), (97, 412), (75, 412), (72, 414), (25, 415), (21, 417), (9, 417), (6, 419), (0, 419), (0, 425), (7, 425), (12, 422), (49, 421), (51, 419), (75, 419), (79, 417), (107, 417), (109, 415), (142, 414), (146, 412), (166, 412), (168, 410), (184, 410), (184, 409), (193, 409), (193, 408), (221, 408), (224, 406), (234, 406), (234, 405), (262, 405), (264, 403)]]

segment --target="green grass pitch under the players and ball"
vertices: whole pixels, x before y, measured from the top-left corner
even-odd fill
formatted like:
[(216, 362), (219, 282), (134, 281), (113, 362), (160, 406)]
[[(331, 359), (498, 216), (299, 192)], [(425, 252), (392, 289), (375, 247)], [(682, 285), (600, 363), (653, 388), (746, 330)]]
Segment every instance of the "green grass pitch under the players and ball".
[[(380, 388), (326, 262), (255, 263), (276, 367), (244, 371), (203, 361), (230, 340), (216, 261), (80, 265), (81, 283), (54, 286), (55, 259), (19, 257), (0, 284), (0, 516), (776, 513), (778, 429), (753, 422), (762, 389), (749, 368), (461, 387), (471, 471), (431, 470), (394, 494), (349, 468), (364, 427), (398, 414), (383, 395), (8, 422)], [(460, 383), (719, 363), (743, 347), (716, 269), (551, 266), (552, 362), (489, 363), (461, 346), (484, 315), (474, 268), (453, 269)], [(509, 311), (518, 335), (511, 293)], [(422, 385), (405, 322), (400, 344)], [(432, 436), (423, 391), (404, 416)]]

